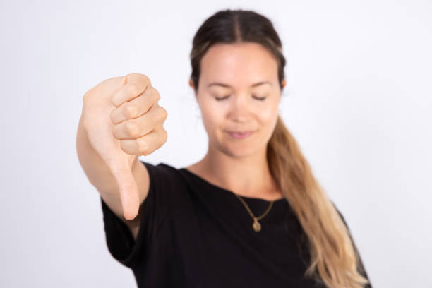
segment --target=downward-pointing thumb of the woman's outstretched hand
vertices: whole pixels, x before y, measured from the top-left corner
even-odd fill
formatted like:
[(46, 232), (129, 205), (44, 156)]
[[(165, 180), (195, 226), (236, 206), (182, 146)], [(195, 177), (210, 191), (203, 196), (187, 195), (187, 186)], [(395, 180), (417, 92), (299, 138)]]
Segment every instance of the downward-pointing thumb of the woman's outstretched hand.
[(109, 163), (117, 186), (119, 187), (121, 207), (126, 220), (133, 220), (138, 215), (140, 199), (138, 186), (131, 170), (131, 157), (119, 157), (115, 162)]

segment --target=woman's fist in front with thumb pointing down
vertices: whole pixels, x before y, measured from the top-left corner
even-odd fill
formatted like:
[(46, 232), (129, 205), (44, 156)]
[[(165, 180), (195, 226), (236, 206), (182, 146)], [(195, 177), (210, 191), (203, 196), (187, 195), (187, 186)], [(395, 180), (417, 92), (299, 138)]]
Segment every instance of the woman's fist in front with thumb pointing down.
[(136, 217), (140, 205), (133, 163), (167, 141), (167, 111), (159, 100), (150, 78), (138, 73), (104, 80), (83, 96), (84, 129), (116, 179), (127, 220)]

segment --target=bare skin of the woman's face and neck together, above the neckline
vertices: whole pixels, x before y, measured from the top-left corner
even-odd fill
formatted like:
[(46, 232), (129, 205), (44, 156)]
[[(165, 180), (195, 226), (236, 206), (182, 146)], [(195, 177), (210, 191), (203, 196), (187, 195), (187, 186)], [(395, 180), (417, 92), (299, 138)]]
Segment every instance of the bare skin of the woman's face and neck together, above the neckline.
[[(209, 87), (215, 82), (226, 87)], [(268, 83), (253, 86), (260, 82)], [(194, 88), (192, 80), (189, 85)], [(282, 85), (286, 85), (285, 80)], [(203, 56), (194, 93), (208, 133), (208, 152), (186, 169), (239, 196), (282, 198), (266, 158), (282, 95), (274, 56), (256, 43), (215, 44)], [(262, 101), (256, 97), (266, 98)], [(255, 132), (236, 139), (227, 131)]]

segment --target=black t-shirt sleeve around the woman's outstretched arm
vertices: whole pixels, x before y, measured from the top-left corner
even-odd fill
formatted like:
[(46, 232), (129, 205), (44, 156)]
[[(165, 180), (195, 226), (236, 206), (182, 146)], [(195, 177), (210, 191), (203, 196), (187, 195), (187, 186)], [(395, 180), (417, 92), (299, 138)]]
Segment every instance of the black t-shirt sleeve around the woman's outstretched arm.
[[(104, 232), (109, 253), (121, 264), (128, 268), (135, 268), (148, 254), (155, 239), (157, 227), (162, 223), (169, 211), (169, 187), (161, 181), (166, 179), (164, 169), (160, 165), (153, 165), (140, 160), (148, 169), (150, 187), (148, 196), (140, 205), (140, 224), (136, 240), (128, 226), (117, 217), (107, 203), (100, 198), (102, 203), (102, 215)], [(164, 184), (165, 183), (165, 184)]]

